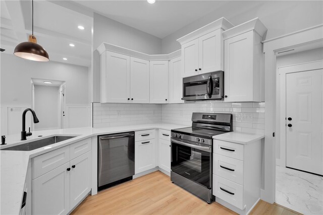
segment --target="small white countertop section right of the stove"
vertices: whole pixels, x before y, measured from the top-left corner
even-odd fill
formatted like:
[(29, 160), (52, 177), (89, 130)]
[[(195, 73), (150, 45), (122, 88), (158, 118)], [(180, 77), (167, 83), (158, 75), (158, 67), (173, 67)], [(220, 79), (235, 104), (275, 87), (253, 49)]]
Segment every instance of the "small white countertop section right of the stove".
[(264, 138), (264, 134), (244, 133), (239, 131), (214, 135), (213, 139), (235, 142), (236, 144), (249, 144), (250, 142)]

